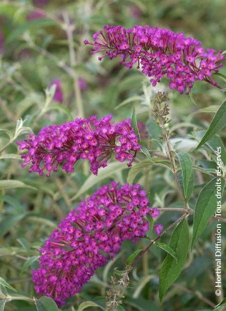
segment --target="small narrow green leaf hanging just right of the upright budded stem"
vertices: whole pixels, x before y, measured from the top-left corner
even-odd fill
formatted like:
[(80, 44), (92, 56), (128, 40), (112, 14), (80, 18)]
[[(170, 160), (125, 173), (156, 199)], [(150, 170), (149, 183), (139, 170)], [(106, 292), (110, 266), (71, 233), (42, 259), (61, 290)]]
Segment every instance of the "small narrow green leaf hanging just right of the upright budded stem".
[(177, 157), (180, 162), (180, 167), (183, 176), (184, 196), (187, 199), (188, 186), (190, 179), (192, 178), (192, 161), (189, 154), (186, 152), (177, 153)]

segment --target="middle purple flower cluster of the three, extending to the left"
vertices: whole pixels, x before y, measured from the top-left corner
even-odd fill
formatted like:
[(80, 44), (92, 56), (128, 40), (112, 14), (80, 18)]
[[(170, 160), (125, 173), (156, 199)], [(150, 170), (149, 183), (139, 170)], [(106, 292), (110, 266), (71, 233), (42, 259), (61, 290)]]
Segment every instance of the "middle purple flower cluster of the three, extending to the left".
[(138, 137), (131, 125), (131, 119), (111, 123), (111, 115), (100, 120), (96, 116), (89, 119), (76, 118), (61, 125), (49, 125), (40, 130), (37, 136), (17, 141), (19, 149), (27, 149), (22, 154), (22, 167), (31, 164), (29, 172), (47, 176), (56, 172), (61, 165), (66, 173), (74, 172), (79, 159), (87, 159), (90, 170), (97, 175), (100, 167), (106, 167), (111, 154), (120, 161), (132, 165), (137, 150), (141, 148)]

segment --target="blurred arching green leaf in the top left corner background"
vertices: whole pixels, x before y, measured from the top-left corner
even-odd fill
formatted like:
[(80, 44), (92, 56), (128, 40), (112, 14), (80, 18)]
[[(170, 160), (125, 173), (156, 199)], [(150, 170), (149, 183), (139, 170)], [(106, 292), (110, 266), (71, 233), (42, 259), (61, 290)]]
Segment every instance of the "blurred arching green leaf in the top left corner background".
[(47, 18), (36, 19), (27, 23), (23, 23), (21, 26), (17, 26), (14, 31), (11, 31), (6, 40), (6, 43), (10, 43), (18, 39), (19, 36), (23, 35), (26, 31), (30, 31), (36, 28), (40, 29), (41, 27), (52, 25), (56, 25), (56, 22)]

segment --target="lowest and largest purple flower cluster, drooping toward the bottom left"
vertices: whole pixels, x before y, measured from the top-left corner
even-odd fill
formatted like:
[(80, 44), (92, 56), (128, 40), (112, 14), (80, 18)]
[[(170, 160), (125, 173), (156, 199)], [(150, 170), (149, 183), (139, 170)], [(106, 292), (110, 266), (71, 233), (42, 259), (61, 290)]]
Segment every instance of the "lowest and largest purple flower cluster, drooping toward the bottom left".
[[(112, 182), (98, 189), (62, 220), (41, 248), (40, 268), (33, 271), (35, 289), (59, 306), (80, 292), (94, 271), (113, 258), (126, 239), (145, 237), (156, 217), (140, 185)], [(157, 230), (159, 233), (159, 230)]]

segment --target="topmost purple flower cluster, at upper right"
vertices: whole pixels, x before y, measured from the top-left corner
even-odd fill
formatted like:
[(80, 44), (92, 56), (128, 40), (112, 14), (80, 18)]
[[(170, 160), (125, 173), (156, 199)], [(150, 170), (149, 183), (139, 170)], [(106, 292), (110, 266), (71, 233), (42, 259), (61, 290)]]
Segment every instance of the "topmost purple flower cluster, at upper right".
[(170, 88), (180, 94), (189, 93), (196, 80), (216, 85), (210, 76), (222, 67), (221, 51), (204, 49), (200, 41), (186, 38), (183, 33), (147, 25), (129, 29), (105, 25), (103, 30), (93, 35), (94, 43), (84, 41), (93, 45), (90, 53), (105, 53), (99, 60), (120, 55), (121, 63), (128, 68), (138, 64), (137, 68), (141, 67), (142, 73), (151, 78), (153, 86), (166, 76)]

